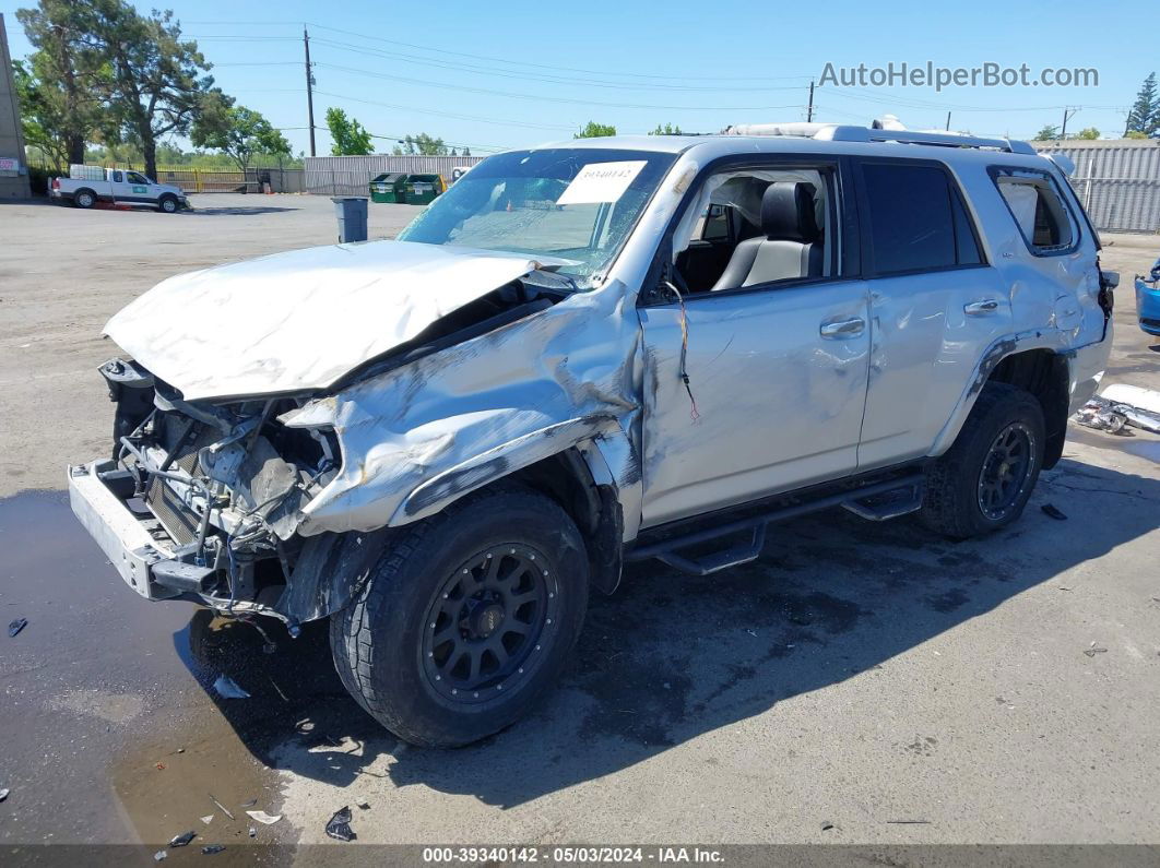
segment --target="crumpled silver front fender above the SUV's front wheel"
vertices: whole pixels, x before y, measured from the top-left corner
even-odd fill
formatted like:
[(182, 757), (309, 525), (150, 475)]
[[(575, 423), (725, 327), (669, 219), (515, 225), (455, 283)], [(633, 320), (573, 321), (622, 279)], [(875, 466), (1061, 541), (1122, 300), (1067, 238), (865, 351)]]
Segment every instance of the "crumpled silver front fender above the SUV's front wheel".
[[(415, 521), (583, 442), (596, 443), (639, 509), (639, 322), (623, 289), (570, 296), (282, 416), (333, 429), (342, 451), (298, 533)], [(626, 528), (637, 524), (628, 512)]]

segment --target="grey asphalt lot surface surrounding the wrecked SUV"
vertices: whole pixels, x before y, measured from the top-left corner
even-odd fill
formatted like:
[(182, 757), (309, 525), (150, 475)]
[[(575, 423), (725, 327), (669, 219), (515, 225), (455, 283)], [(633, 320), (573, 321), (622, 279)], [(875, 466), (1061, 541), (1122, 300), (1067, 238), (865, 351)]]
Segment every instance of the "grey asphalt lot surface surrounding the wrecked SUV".
[[(101, 326), (169, 275), (335, 235), (322, 197), (193, 202), (0, 205), (0, 611), (29, 621), (0, 637), (0, 845), (152, 853), (190, 829), (224, 858), (256, 841), (312, 863), (329, 847), (306, 845), (354, 846), (322, 833), (343, 805), (363, 844), (1160, 844), (1160, 437), (1143, 431), (1072, 425), (988, 539), (826, 513), (726, 574), (633, 567), (593, 600), (560, 690), (450, 752), (360, 712), (321, 630), (266, 655), (245, 625), (136, 598), (60, 495), (66, 462), (108, 451)], [(371, 205), (371, 236), (418, 211)], [(1131, 278), (1160, 240), (1105, 243), (1123, 277), (1105, 382), (1157, 388)], [(217, 696), (222, 672), (252, 696)], [(283, 816), (256, 838), (252, 798)]]

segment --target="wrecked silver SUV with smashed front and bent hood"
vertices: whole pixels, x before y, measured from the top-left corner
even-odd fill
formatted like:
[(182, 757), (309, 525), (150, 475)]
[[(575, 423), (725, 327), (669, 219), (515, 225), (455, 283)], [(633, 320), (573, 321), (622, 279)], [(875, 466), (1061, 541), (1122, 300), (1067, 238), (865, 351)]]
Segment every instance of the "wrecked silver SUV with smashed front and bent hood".
[(1022, 512), (1116, 275), (1023, 143), (789, 124), (500, 154), (396, 241), (169, 278), (114, 316), (75, 513), (151, 600), (328, 618), (396, 735), (478, 739), (589, 585), (705, 575), (771, 523)]

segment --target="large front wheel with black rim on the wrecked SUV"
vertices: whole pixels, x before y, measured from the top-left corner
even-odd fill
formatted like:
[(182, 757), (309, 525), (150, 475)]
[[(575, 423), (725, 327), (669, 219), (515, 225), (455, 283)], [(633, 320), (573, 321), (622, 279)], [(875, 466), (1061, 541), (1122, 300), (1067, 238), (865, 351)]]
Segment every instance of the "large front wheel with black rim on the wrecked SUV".
[(343, 685), (421, 746), (510, 725), (556, 681), (588, 605), (568, 515), (525, 489), (469, 495), (403, 528), (362, 593), (331, 619)]

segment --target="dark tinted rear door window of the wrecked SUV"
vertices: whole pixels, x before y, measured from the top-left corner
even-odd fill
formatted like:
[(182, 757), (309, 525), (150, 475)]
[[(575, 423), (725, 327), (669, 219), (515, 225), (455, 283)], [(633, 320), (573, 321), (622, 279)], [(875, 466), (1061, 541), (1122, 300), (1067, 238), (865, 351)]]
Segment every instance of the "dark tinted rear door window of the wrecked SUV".
[(862, 166), (870, 253), (878, 275), (931, 271), (983, 262), (971, 219), (937, 166)]

